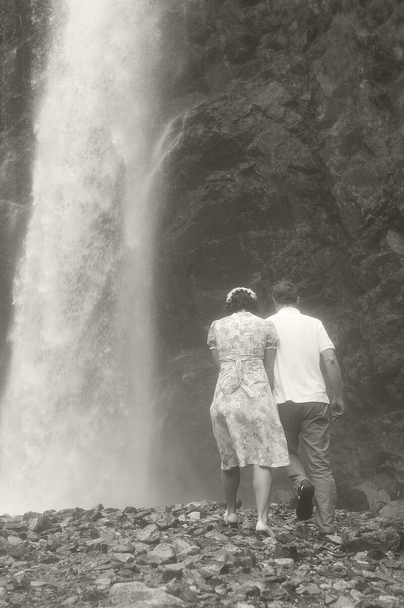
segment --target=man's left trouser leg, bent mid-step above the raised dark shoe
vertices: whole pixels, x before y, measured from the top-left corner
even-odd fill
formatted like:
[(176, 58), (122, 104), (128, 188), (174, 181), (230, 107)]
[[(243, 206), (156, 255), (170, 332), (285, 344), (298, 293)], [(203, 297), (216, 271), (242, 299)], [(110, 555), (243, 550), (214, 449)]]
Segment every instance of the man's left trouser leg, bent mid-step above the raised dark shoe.
[(278, 404), (278, 412), (288, 444), (290, 465), (286, 467), (288, 477), (296, 490), (299, 484), (307, 479), (306, 472), (299, 458), (299, 434), (302, 424), (302, 404), (287, 401)]

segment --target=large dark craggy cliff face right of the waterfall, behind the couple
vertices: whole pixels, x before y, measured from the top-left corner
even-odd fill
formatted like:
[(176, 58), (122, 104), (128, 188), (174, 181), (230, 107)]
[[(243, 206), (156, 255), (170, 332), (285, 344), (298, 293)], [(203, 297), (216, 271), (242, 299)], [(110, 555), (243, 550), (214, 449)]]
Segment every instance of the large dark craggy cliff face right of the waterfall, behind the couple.
[(165, 435), (189, 438), (190, 478), (201, 461), (217, 477), (207, 330), (235, 285), (256, 289), (267, 315), (271, 285), (287, 277), (302, 312), (324, 322), (344, 375), (336, 477), (375, 478), (397, 496), (404, 7), (195, 0), (170, 3), (162, 24), (167, 103), (186, 112), (164, 166), (160, 226)]

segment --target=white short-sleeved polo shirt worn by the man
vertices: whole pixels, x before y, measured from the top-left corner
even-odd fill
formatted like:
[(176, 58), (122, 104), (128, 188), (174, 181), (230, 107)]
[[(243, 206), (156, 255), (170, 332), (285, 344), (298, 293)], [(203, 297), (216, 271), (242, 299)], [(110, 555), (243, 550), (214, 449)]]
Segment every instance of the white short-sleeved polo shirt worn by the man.
[(334, 345), (321, 321), (289, 306), (268, 319), (279, 336), (274, 367), (276, 402), (329, 403), (320, 370), (320, 353)]

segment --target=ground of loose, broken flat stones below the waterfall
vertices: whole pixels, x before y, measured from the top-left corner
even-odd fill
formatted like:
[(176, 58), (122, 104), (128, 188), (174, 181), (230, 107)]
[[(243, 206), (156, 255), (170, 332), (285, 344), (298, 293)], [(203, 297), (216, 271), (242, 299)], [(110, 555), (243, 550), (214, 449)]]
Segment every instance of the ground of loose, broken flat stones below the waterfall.
[(265, 541), (252, 508), (231, 530), (225, 505), (207, 500), (4, 514), (0, 606), (400, 608), (403, 503), (377, 516), (337, 511), (325, 539), (290, 503), (273, 504), (276, 539)]

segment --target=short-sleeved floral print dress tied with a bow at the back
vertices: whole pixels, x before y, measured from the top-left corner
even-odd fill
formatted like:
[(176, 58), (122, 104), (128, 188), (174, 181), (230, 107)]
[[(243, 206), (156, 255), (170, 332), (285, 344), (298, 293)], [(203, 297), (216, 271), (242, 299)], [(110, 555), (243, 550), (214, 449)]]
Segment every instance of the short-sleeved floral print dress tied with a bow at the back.
[(263, 367), (278, 342), (273, 322), (241, 311), (214, 321), (207, 344), (217, 348), (220, 372), (212, 426), (225, 471), (235, 466), (287, 466), (288, 448)]

